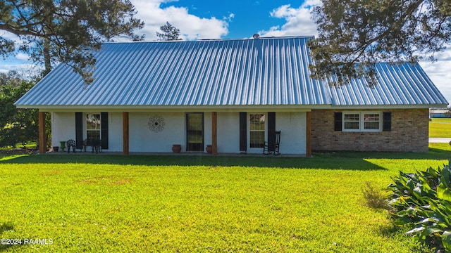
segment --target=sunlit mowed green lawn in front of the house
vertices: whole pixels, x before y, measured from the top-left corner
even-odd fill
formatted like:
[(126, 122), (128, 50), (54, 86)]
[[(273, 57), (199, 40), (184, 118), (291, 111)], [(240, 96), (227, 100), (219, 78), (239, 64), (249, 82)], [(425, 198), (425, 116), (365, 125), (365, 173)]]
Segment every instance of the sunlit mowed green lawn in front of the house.
[(0, 251), (427, 252), (367, 207), (363, 190), (450, 155), (435, 143), (425, 154), (314, 158), (5, 156), (0, 238), (51, 244)]

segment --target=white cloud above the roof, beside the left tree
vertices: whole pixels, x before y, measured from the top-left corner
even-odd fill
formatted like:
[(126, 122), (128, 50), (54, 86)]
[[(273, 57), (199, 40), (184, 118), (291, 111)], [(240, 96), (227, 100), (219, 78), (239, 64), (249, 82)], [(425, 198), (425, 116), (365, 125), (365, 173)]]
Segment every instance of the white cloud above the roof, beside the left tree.
[(146, 41), (157, 39), (156, 32), (160, 31), (160, 26), (167, 22), (180, 29), (182, 38), (185, 40), (194, 39), (216, 39), (228, 34), (228, 22), (233, 18), (233, 13), (223, 20), (215, 17), (199, 18), (189, 13), (188, 8), (168, 6), (161, 8), (162, 3), (171, 1), (163, 0), (132, 0), (132, 4), (137, 10), (137, 18), (145, 22), (144, 28), (138, 33), (146, 35)]

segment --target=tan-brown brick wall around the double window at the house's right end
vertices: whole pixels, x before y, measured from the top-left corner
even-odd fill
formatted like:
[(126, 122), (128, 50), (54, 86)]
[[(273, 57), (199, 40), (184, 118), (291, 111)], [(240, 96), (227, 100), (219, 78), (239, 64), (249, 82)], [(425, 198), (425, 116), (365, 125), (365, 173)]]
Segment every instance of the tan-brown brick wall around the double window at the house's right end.
[(381, 132), (334, 131), (334, 112), (342, 111), (311, 110), (312, 150), (428, 152), (427, 108), (371, 110), (392, 113), (391, 131)]

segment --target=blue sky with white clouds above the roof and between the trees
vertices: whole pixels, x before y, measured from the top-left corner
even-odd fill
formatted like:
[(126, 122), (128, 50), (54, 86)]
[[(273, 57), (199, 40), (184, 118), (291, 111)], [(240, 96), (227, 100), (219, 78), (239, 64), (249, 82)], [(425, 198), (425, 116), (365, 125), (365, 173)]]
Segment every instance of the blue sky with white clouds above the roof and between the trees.
[[(177, 27), (184, 40), (244, 39), (253, 34), (261, 37), (316, 36), (311, 20), (312, 6), (320, 0), (130, 0), (137, 18), (145, 22), (137, 34), (145, 34), (146, 41), (155, 41), (156, 32), (166, 22)], [(1, 36), (13, 37), (11, 34)], [(420, 62), (428, 76), (451, 102), (451, 46), (437, 53), (437, 62)], [(34, 65), (19, 53), (0, 63), (0, 72), (30, 70)]]

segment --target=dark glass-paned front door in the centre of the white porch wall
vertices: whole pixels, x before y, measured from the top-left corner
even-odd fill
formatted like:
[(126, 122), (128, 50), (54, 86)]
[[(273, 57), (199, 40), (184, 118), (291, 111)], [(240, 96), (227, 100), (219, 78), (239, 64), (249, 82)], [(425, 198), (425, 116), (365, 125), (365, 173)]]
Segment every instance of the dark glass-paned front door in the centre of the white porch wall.
[(204, 151), (204, 113), (186, 114), (186, 150)]

